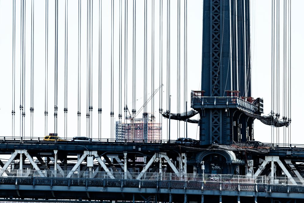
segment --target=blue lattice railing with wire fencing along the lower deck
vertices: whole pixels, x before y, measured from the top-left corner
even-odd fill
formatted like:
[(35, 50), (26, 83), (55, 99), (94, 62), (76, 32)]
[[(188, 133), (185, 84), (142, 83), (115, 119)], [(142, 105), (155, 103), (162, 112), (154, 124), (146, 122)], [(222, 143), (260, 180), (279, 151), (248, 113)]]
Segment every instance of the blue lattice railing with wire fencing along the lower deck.
[[(75, 172), (66, 178), (60, 172), (47, 171), (46, 177), (41, 177), (35, 171), (16, 171), (11, 176), (0, 177), (0, 185), (48, 185), (48, 186), (95, 186), (95, 187), (133, 187), (133, 188), (168, 188), (181, 190), (216, 190), (216, 191), (253, 191), (304, 193), (304, 182), (295, 179), (292, 184), (287, 177), (239, 176), (221, 174), (173, 174), (150, 173), (141, 179), (135, 179), (138, 173), (131, 173), (131, 178), (125, 179), (124, 173), (114, 173), (111, 179), (105, 172), (94, 174), (93, 171)], [(69, 171), (64, 171), (68, 174)], [(16, 175), (16, 176), (15, 176)], [(94, 177), (93, 177), (94, 176)]]

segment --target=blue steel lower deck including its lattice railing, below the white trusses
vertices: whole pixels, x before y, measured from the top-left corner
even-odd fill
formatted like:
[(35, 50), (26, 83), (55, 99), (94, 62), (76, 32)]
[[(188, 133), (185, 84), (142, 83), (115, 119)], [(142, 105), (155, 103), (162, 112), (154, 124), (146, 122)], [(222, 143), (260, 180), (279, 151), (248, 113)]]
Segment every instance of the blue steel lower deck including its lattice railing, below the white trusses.
[(149, 177), (149, 180), (110, 179), (106, 176), (104, 178), (1, 177), (0, 198), (75, 200), (111, 200), (112, 198), (112, 200), (131, 201), (133, 194), (148, 196), (157, 194), (160, 198), (168, 194), (174, 194), (174, 197), (178, 198), (180, 195), (188, 195), (189, 199), (201, 195), (296, 199), (304, 197), (304, 185), (292, 185), (288, 182), (271, 184), (266, 177), (264, 179), (264, 176), (247, 179), (244, 176), (230, 176), (229, 181), (222, 177), (215, 181), (212, 175), (205, 180), (195, 179), (194, 176), (186, 180), (179, 177), (176, 180), (172, 180), (172, 177), (167, 178), (168, 180), (160, 180), (163, 177), (170, 176), (163, 173), (154, 175), (154, 179)]

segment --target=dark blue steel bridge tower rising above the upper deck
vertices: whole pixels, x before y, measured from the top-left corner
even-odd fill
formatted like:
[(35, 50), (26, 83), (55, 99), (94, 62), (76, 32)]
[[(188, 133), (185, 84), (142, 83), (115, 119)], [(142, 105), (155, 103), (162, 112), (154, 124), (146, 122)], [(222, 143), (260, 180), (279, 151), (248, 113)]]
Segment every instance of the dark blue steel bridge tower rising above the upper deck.
[(202, 37), (201, 91), (191, 94), (200, 143), (253, 140), (253, 119), (243, 112), (260, 113), (251, 97), (249, 0), (204, 1)]

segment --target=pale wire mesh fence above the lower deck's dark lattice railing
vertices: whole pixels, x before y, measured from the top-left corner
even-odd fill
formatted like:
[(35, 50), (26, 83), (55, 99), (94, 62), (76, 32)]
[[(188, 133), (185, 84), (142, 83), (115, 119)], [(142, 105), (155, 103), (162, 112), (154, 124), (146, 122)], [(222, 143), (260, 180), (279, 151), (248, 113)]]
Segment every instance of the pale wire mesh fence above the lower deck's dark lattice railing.
[[(2, 169), (0, 169), (2, 171)], [(44, 178), (66, 178), (70, 171), (51, 170), (5, 170), (0, 178), (10, 177), (41, 177)], [(134, 180), (139, 173), (133, 172), (111, 172), (117, 180)], [(111, 179), (105, 171), (75, 171), (69, 179)], [(172, 181), (194, 181), (213, 183), (242, 183), (242, 184), (280, 184), (294, 185), (288, 177), (268, 177), (268, 176), (243, 176), (225, 174), (196, 174), (196, 173), (148, 173), (146, 172), (140, 180), (172, 180)], [(302, 178), (293, 178), (297, 185), (304, 185)]]

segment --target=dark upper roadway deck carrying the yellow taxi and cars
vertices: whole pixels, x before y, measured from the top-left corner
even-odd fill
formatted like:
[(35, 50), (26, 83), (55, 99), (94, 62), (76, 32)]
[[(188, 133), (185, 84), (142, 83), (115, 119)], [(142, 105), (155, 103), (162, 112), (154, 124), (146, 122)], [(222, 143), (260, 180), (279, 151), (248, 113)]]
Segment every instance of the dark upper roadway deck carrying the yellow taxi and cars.
[[(266, 143), (267, 144), (267, 143)], [(271, 145), (271, 144), (269, 144)], [(180, 148), (180, 146), (183, 146)], [(37, 139), (23, 140), (19, 138), (3, 139), (0, 137), (0, 154), (11, 154), (15, 149), (26, 149), (30, 151), (53, 151), (54, 149), (65, 151), (68, 154), (79, 154), (84, 150), (87, 151), (102, 151), (102, 152), (170, 152), (172, 149), (178, 148), (178, 151), (186, 152), (187, 147), (199, 149), (206, 149), (208, 146), (192, 145), (183, 143), (174, 143), (174, 141), (167, 140), (132, 140), (132, 141), (109, 141), (103, 139), (100, 142), (45, 142)], [(246, 149), (244, 149), (246, 150)], [(236, 149), (242, 151), (242, 149)], [(268, 156), (285, 156), (304, 159), (304, 145), (273, 145), (269, 148)]]

